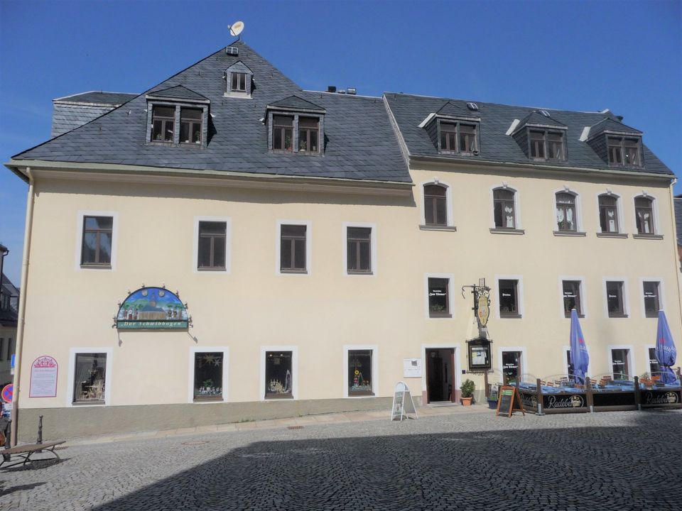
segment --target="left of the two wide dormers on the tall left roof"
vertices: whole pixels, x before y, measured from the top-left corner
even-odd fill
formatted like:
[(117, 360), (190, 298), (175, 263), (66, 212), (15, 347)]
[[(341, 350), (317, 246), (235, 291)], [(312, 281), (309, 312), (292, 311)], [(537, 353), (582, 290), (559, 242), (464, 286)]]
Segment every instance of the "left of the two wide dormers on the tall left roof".
[(205, 148), (211, 101), (183, 85), (146, 94), (149, 144)]

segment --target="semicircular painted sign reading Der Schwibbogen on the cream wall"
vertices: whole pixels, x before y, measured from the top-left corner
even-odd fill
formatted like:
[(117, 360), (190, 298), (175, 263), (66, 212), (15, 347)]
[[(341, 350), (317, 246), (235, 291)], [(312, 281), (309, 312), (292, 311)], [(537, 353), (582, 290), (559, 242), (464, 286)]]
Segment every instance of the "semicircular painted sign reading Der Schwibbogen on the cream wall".
[(114, 326), (119, 330), (186, 329), (191, 322), (187, 304), (180, 302), (177, 293), (143, 285), (120, 304)]

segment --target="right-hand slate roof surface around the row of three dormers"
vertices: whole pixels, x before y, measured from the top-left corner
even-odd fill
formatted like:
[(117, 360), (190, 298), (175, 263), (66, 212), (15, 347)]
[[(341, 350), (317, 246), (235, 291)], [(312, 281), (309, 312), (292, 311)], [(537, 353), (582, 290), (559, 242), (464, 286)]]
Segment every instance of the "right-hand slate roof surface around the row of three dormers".
[[(482, 103), (475, 101), (479, 109), (476, 112), (480, 117), (480, 153), (478, 155), (440, 154), (426, 129), (418, 125), (423, 119), (433, 112), (437, 112), (446, 101), (450, 101), (461, 109), (466, 109), (467, 101), (462, 99), (438, 98), (415, 96), (411, 94), (399, 94), (394, 92), (384, 93), (391, 112), (396, 119), (408, 152), (413, 156), (438, 156), (451, 160), (480, 160), (499, 163), (521, 163), (534, 167), (546, 166), (546, 163), (537, 163), (529, 158), (521, 149), (513, 137), (506, 135), (514, 119), (524, 119), (531, 114), (527, 106), (511, 106), (494, 103)], [(588, 143), (580, 142), (580, 136), (585, 126), (594, 126), (600, 121), (608, 119), (619, 126), (628, 128), (619, 123), (610, 113), (600, 112), (576, 112), (566, 110), (547, 109), (558, 123), (567, 126), (567, 160), (565, 162), (551, 162), (553, 166), (584, 167), (595, 170), (617, 170), (610, 167), (600, 158)], [(550, 121), (545, 116), (538, 114), (544, 123)], [(631, 128), (632, 129), (632, 128)], [(590, 133), (591, 135), (591, 133)], [(650, 172), (662, 175), (672, 175), (673, 172), (661, 162), (651, 150), (642, 145), (644, 151), (644, 167), (641, 169), (628, 168), (632, 172)]]

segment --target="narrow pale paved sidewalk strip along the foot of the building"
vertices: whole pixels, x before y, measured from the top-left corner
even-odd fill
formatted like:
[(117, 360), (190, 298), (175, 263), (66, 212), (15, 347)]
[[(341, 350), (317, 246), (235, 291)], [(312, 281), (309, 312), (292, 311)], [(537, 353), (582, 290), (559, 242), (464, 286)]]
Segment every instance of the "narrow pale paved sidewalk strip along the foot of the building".
[[(434, 415), (448, 415), (456, 413), (471, 413), (476, 411), (489, 410), (484, 405), (473, 405), (463, 407), (461, 405), (436, 405), (426, 407), (416, 407), (418, 417), (431, 417)], [(490, 410), (492, 412), (492, 410)], [(494, 412), (493, 412), (494, 413)], [(147, 439), (147, 438), (168, 438), (172, 436), (202, 434), (212, 432), (237, 432), (248, 431), (251, 429), (274, 429), (289, 428), (292, 426), (310, 426), (311, 424), (344, 424), (347, 422), (364, 422), (384, 419), (389, 421), (390, 410), (377, 410), (372, 412), (345, 412), (335, 414), (304, 415), (303, 417), (291, 417), (288, 419), (269, 419), (248, 422), (230, 422), (227, 424), (212, 424), (210, 426), (197, 426), (178, 429), (159, 429), (156, 431), (104, 434), (81, 436), (67, 441), (67, 446), (87, 445), (87, 444), (106, 444), (113, 441)]]

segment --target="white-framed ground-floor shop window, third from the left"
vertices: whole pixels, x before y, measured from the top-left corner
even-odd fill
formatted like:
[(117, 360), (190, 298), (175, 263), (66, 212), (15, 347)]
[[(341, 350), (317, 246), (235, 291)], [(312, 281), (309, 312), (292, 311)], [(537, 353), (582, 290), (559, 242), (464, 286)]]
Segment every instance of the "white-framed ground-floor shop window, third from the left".
[(261, 346), (259, 400), (298, 399), (298, 346)]

